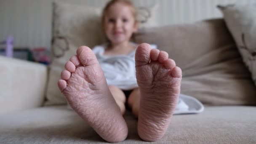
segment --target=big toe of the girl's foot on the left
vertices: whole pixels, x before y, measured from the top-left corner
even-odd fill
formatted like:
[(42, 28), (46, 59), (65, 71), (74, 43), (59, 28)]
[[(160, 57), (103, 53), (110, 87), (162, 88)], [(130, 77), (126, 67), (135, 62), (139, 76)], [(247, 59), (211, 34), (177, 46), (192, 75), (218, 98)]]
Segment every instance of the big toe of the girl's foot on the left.
[(81, 46), (77, 49), (77, 57), (84, 66), (99, 63), (91, 48), (87, 46)]

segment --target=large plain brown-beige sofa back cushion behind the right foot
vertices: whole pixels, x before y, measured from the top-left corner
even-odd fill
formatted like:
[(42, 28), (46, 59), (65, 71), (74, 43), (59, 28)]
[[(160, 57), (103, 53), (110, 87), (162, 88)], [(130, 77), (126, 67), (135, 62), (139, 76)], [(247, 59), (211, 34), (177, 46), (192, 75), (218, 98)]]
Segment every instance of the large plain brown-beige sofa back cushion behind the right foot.
[(203, 104), (256, 105), (256, 87), (223, 19), (141, 29), (135, 42), (169, 53), (182, 69), (181, 93)]

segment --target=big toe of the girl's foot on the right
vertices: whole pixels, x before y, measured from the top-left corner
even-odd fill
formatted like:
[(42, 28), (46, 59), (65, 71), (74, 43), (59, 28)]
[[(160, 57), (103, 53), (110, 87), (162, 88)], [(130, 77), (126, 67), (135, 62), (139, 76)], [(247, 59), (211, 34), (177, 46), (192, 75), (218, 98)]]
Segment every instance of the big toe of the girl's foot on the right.
[(136, 66), (148, 64), (150, 61), (151, 46), (147, 43), (142, 43), (138, 46), (135, 53)]

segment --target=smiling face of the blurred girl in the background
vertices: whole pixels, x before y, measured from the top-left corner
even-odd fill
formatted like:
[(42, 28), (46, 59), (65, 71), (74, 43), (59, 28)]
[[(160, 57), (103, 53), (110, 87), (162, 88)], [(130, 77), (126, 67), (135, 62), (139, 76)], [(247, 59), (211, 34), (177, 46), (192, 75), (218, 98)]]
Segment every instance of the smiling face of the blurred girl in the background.
[(131, 8), (123, 3), (111, 5), (104, 18), (104, 30), (112, 44), (129, 41), (137, 30)]

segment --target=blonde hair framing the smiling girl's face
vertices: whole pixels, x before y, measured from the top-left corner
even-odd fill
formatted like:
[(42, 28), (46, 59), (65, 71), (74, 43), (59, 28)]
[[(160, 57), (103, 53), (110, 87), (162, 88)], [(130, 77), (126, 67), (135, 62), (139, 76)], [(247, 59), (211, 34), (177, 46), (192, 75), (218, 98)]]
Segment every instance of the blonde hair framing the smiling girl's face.
[[(124, 5), (128, 6), (131, 8), (131, 13), (133, 14), (134, 16), (134, 20), (135, 20), (135, 23), (134, 24), (138, 24), (139, 22), (137, 21), (137, 11), (136, 11), (136, 7), (134, 6), (133, 2), (131, 0), (110, 0), (106, 6), (104, 7), (103, 11), (102, 11), (102, 14), (101, 14), (101, 29), (103, 30), (104, 34), (105, 34), (105, 31), (104, 31), (104, 20), (105, 20), (105, 17), (107, 15), (107, 10), (109, 9), (109, 7), (111, 5), (114, 5), (115, 3), (123, 3)], [(105, 34), (106, 35), (106, 34)]]

